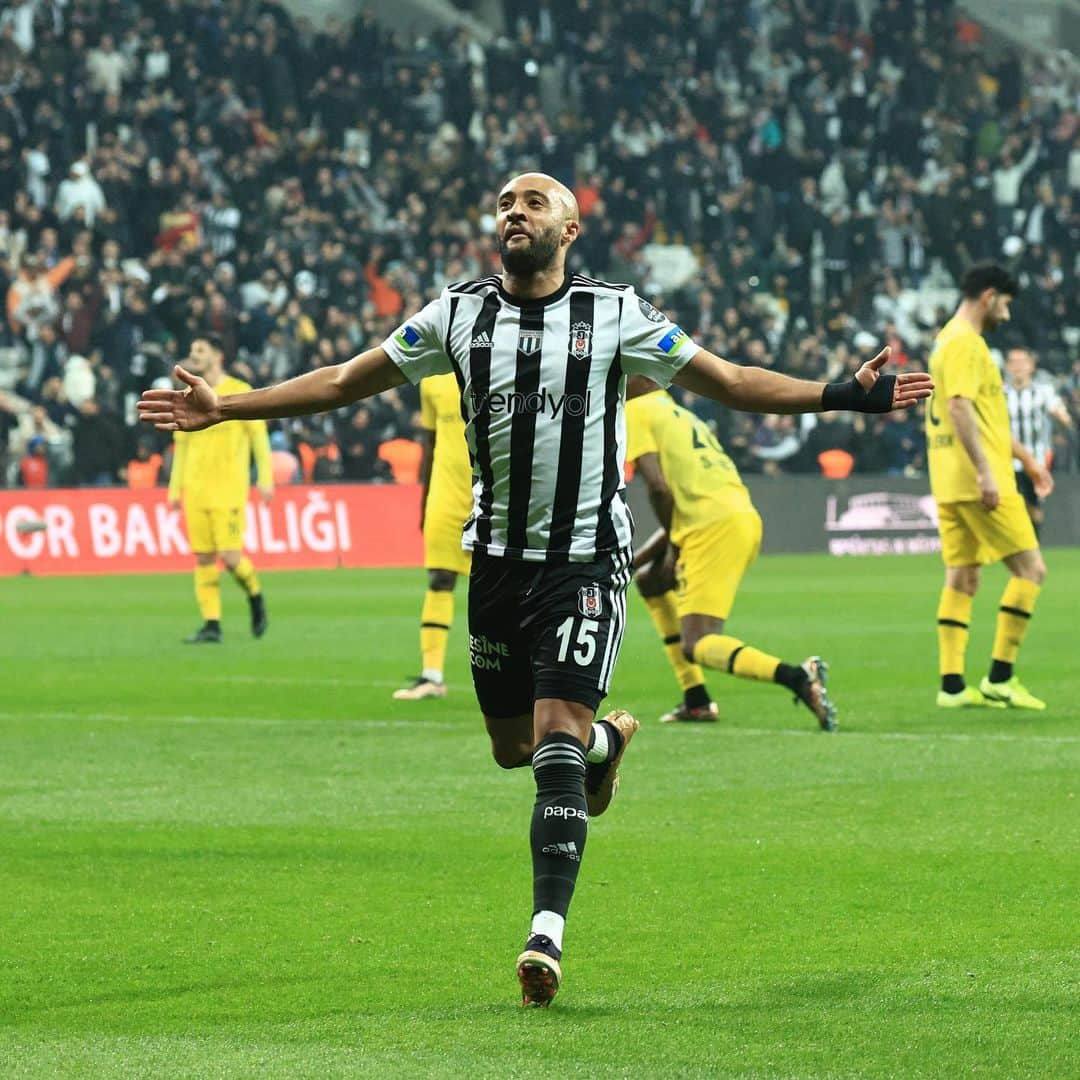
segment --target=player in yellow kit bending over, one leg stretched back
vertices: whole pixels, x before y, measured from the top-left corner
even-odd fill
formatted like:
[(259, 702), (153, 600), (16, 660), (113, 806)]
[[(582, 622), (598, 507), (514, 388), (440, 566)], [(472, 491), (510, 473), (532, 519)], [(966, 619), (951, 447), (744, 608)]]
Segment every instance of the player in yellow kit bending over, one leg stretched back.
[(661, 723), (716, 719), (703, 665), (784, 686), (822, 730), (835, 731), (820, 657), (786, 664), (724, 633), (761, 543), (761, 518), (731, 459), (702, 420), (651, 380), (632, 375), (626, 397), (626, 459), (662, 526), (634, 556), (635, 581), (684, 696)]

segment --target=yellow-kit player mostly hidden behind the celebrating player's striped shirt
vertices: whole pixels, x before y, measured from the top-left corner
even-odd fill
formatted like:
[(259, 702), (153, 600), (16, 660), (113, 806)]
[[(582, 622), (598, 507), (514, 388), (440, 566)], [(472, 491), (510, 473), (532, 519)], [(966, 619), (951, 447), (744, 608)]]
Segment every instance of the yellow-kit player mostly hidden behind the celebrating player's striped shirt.
[(469, 573), (471, 563), (461, 532), (472, 513), (472, 465), (454, 375), (432, 375), (420, 382), (420, 527), (428, 591), (420, 612), (420, 675), (411, 686), (394, 691), (399, 701), (446, 697), (443, 666), (454, 621), (454, 586), (458, 575)]

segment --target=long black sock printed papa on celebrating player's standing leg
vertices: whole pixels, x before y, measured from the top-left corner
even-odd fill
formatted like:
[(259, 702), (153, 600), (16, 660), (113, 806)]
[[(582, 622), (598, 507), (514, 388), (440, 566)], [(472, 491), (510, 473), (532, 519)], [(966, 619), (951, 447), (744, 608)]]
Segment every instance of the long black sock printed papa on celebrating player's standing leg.
[(548, 735), (532, 753), (532, 909), (565, 917), (589, 833), (585, 747), (573, 735)]

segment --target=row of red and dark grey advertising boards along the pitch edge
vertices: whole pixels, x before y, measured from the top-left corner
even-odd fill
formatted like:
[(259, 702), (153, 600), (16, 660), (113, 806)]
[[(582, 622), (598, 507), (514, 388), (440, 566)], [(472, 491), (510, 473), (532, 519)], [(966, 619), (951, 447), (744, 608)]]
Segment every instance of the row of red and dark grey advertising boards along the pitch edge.
[[(766, 553), (922, 554), (940, 550), (924, 480), (753, 476)], [(644, 537), (654, 518), (639, 481), (630, 503)], [(341, 484), (279, 488), (270, 505), (253, 496), (244, 546), (260, 568), (419, 566), (420, 489)], [(1057, 478), (1048, 500), (1044, 546), (1080, 545), (1080, 477)], [(184, 515), (161, 488), (0, 491), (0, 575), (186, 570)]]

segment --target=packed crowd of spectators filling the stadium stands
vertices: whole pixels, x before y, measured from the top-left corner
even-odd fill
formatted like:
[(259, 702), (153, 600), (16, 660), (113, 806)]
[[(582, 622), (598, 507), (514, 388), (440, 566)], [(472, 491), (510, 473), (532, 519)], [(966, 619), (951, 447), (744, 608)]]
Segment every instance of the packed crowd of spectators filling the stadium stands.
[[(0, 483), (161, 483), (134, 401), (219, 336), (255, 384), (498, 269), (492, 192), (572, 180), (575, 268), (734, 361), (922, 366), (971, 261), (1080, 415), (1080, 79), (948, 0), (504, 0), (505, 32), (314, 27), (272, 0), (0, 13)], [(919, 417), (691, 402), (746, 471), (924, 468)], [(404, 388), (278, 424), (303, 475), (391, 480)], [(1064, 437), (1064, 436), (1063, 436)], [(302, 453), (301, 453), (302, 450)], [(401, 468), (399, 468), (401, 467)], [(1076, 468), (1063, 443), (1058, 468)]]

